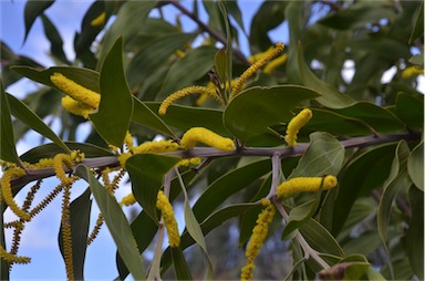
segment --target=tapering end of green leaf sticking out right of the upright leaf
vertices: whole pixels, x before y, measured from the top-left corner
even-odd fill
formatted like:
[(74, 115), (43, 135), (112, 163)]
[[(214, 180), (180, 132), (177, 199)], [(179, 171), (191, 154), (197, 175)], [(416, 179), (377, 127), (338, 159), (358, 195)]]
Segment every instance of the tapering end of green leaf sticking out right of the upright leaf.
[(144, 102), (133, 96), (132, 121), (174, 137), (174, 133)]

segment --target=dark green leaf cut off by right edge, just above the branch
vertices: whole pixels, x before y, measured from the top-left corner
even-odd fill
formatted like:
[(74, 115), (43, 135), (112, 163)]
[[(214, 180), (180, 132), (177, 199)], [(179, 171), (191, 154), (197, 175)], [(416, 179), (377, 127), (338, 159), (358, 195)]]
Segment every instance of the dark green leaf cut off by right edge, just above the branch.
[(395, 113), (408, 128), (424, 127), (424, 95), (410, 95), (400, 93), (395, 103)]

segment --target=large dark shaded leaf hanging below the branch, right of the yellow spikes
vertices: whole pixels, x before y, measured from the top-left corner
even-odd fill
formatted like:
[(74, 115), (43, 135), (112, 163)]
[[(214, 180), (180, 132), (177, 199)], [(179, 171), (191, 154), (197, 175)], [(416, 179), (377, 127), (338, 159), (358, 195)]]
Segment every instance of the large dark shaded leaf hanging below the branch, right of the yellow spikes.
[(360, 155), (339, 177), (338, 196), (332, 212), (332, 233), (339, 233), (354, 201), (360, 196), (370, 196), (371, 191), (382, 186), (388, 177), (394, 148), (394, 144), (385, 144)]

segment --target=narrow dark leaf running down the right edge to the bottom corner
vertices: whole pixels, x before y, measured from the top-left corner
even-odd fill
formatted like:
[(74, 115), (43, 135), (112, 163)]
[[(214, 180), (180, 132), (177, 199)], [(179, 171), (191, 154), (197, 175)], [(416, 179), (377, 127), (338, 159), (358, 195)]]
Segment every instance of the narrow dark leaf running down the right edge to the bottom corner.
[(412, 217), (406, 235), (406, 250), (412, 269), (419, 280), (424, 279), (424, 192), (411, 188), (408, 198)]

